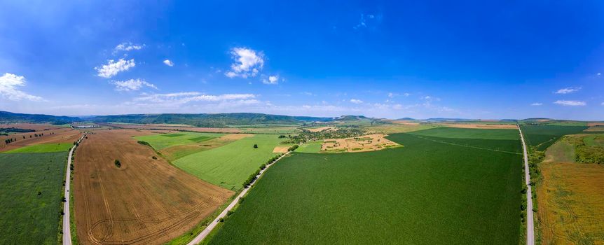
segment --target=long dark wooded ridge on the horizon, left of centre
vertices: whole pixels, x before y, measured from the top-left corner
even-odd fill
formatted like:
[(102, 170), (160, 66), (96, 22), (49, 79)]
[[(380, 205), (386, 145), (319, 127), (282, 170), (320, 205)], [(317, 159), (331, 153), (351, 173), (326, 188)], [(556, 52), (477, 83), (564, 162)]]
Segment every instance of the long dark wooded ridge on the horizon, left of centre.
[(216, 114), (130, 114), (114, 116), (95, 116), (87, 118), (99, 123), (175, 123), (197, 127), (228, 127), (229, 125), (296, 125), (306, 122), (329, 121), (332, 118), (306, 116), (280, 116), (262, 113), (216, 113)]

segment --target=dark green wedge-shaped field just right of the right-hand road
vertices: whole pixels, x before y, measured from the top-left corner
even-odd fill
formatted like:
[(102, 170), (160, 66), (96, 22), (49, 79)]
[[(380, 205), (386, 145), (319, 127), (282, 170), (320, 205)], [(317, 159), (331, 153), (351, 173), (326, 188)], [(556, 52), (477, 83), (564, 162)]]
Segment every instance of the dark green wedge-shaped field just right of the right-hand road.
[(560, 125), (523, 125), (526, 144), (534, 146), (537, 151), (544, 151), (565, 134), (577, 134), (587, 129), (587, 126)]

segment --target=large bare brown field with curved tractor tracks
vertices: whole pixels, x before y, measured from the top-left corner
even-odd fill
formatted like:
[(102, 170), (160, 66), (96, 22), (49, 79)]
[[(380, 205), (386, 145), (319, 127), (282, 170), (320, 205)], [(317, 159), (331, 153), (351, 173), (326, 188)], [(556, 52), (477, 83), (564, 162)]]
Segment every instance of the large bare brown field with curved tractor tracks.
[(148, 132), (97, 131), (78, 147), (73, 188), (81, 244), (163, 244), (233, 195), (173, 167), (132, 138), (140, 134)]

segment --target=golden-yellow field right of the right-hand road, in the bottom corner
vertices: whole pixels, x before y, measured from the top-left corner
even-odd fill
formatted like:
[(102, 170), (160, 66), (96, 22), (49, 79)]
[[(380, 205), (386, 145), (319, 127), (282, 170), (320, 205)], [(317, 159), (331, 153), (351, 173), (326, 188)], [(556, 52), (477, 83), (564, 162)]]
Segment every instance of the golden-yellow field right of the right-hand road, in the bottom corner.
[(604, 244), (604, 166), (546, 162), (540, 169), (542, 244)]

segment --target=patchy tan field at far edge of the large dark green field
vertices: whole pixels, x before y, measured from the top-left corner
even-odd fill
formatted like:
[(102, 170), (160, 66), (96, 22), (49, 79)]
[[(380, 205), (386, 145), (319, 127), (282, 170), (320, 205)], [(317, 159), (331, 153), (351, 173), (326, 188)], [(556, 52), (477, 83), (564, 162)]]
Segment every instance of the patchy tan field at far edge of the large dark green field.
[(378, 151), (401, 145), (384, 138), (384, 134), (369, 134), (346, 139), (326, 139), (321, 151), (326, 153)]

